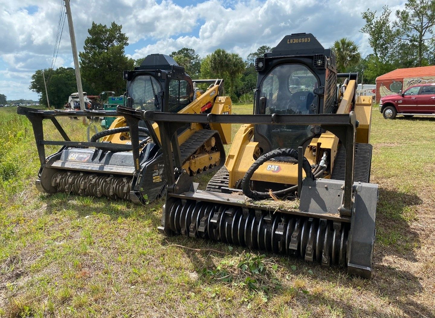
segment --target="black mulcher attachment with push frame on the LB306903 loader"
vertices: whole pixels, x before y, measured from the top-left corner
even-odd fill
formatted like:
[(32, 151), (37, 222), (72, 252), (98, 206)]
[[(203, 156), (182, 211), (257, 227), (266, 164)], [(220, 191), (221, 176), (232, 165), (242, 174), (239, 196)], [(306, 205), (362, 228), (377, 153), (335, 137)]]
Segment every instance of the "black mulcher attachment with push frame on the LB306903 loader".
[[(145, 112), (161, 131), (163, 157), (168, 180), (166, 203), (159, 231), (165, 235), (188, 235), (214, 241), (258, 248), (317, 262), (347, 267), (348, 272), (371, 277), (375, 240), (375, 212), (378, 186), (353, 182), (355, 162), (355, 113), (344, 115), (173, 115)], [(192, 178), (173, 165), (180, 162), (175, 144), (176, 130), (184, 123), (254, 123), (268, 125), (310, 125), (315, 123), (340, 138), (346, 152), (345, 179), (302, 179), (299, 205), (289, 208), (267, 206), (235, 193), (200, 191)], [(306, 169), (301, 150), (299, 170)], [(281, 154), (282, 155), (282, 154)], [(175, 174), (171, 173), (175, 172)], [(220, 172), (222, 174), (222, 172)], [(224, 174), (224, 173), (223, 173)], [(225, 178), (223, 176), (222, 178)], [(195, 191), (196, 190), (196, 191)], [(290, 201), (291, 202), (291, 201)]]

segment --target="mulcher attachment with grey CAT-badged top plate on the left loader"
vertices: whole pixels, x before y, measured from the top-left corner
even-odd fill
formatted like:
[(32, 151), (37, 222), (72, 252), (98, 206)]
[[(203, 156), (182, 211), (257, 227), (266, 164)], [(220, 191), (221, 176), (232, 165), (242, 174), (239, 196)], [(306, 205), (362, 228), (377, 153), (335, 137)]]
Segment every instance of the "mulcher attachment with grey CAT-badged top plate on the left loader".
[[(121, 108), (122, 109), (122, 108)], [(127, 108), (129, 109), (129, 108)], [(163, 159), (157, 137), (147, 128), (138, 126), (140, 112), (131, 109), (125, 119), (130, 126), (111, 133), (128, 131), (131, 141), (125, 144), (97, 142), (104, 136), (96, 133), (89, 142), (71, 141), (56, 117), (106, 116), (120, 117), (116, 111), (63, 111), (17, 108), (32, 123), (41, 168), (36, 187), (41, 192), (67, 192), (78, 195), (106, 196), (134, 203), (154, 200), (164, 193)], [(134, 116), (135, 115), (135, 116)], [(64, 138), (62, 141), (45, 140), (43, 120), (49, 119)], [(107, 131), (105, 131), (107, 132)], [(46, 157), (45, 146), (61, 146), (59, 151)]]

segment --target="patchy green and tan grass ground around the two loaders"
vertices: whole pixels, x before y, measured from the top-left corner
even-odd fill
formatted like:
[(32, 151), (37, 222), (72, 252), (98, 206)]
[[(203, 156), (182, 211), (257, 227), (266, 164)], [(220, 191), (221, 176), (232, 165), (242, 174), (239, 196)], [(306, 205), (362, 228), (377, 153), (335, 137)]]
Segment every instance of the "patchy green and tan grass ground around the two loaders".
[[(363, 280), (298, 259), (164, 237), (162, 201), (143, 207), (40, 194), (31, 127), (14, 111), (0, 109), (0, 317), (435, 316), (435, 119), (387, 122), (373, 112), (371, 177), (380, 193), (374, 274)], [(76, 121), (62, 124), (86, 138)], [(59, 138), (55, 131), (47, 126), (47, 138)], [(200, 177), (202, 186), (210, 177)]]

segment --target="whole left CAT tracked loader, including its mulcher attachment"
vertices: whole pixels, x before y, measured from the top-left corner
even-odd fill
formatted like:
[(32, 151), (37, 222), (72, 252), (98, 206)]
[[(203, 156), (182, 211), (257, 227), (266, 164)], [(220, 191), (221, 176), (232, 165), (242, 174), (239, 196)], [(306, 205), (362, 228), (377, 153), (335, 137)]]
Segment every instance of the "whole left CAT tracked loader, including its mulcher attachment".
[[(129, 123), (123, 110), (231, 113), (230, 97), (221, 96), (223, 80), (196, 80), (196, 83), (211, 84), (201, 92), (194, 87), (184, 67), (167, 55), (147, 56), (141, 66), (125, 71), (124, 79), (127, 80), (124, 98), (127, 105), (118, 107), (118, 112), (42, 111), (18, 107), (17, 113), (26, 115), (33, 125), (41, 162), (36, 180), (38, 190), (107, 196), (135, 203), (154, 200), (166, 188), (159, 128), (155, 123), (146, 128), (143, 120), (131, 119)], [(88, 142), (73, 142), (57, 121), (58, 116), (117, 116), (117, 119), (109, 129), (88, 136)], [(43, 119), (54, 123), (63, 141), (44, 140)], [(181, 162), (177, 163), (181, 163), (189, 175), (212, 171), (224, 164), (223, 144), (231, 142), (231, 125), (189, 123), (179, 127), (177, 142), (181, 149)], [(62, 147), (46, 157), (45, 145)]]

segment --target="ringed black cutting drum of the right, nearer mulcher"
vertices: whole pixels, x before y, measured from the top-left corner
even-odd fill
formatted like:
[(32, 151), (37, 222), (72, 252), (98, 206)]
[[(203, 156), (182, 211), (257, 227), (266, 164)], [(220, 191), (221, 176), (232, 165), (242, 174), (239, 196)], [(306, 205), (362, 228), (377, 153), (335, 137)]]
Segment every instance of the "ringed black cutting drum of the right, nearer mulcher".
[(174, 234), (345, 266), (348, 222), (181, 199), (167, 213)]

